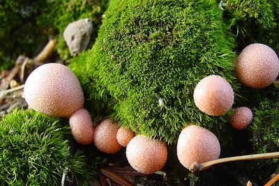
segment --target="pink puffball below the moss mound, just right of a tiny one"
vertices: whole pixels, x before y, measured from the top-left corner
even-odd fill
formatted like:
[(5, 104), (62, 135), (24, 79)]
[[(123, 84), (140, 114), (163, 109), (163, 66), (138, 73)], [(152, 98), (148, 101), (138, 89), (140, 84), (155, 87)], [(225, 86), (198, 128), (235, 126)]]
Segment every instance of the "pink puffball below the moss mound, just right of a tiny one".
[(139, 135), (129, 142), (126, 156), (130, 165), (140, 173), (155, 173), (167, 161), (167, 147), (162, 141)]

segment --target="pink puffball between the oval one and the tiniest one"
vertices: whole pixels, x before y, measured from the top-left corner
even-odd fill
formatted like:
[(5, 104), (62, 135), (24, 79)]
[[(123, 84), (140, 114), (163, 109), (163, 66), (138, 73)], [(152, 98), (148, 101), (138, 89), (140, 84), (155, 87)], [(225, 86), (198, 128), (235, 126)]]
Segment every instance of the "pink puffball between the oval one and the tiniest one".
[(96, 148), (107, 154), (117, 153), (122, 147), (116, 139), (118, 130), (119, 127), (112, 121), (112, 119), (107, 118), (101, 121), (95, 129), (93, 137)]

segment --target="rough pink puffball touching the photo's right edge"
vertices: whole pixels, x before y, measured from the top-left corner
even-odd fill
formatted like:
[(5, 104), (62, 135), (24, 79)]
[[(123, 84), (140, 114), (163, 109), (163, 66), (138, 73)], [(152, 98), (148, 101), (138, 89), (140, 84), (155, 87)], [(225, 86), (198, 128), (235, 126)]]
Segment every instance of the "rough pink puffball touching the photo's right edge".
[(252, 88), (264, 88), (279, 73), (279, 59), (271, 47), (259, 43), (245, 47), (236, 61), (236, 77)]

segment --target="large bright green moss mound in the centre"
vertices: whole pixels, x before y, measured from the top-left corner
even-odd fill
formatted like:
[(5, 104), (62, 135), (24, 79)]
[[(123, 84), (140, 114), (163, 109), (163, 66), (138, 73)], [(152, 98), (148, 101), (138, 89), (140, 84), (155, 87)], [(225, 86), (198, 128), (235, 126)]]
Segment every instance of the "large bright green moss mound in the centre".
[(114, 0), (104, 17), (81, 79), (89, 99), (107, 102), (121, 125), (169, 144), (187, 122), (222, 128), (224, 117), (193, 102), (207, 75), (238, 88), (234, 40), (216, 1)]

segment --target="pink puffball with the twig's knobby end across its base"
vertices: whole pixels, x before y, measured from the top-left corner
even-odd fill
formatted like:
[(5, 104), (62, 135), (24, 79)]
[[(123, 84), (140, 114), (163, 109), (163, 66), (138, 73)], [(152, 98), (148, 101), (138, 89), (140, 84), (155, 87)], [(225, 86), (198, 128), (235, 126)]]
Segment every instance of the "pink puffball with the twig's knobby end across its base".
[(218, 159), (220, 144), (217, 137), (203, 127), (189, 125), (179, 134), (177, 156), (187, 169), (194, 162), (203, 163)]

